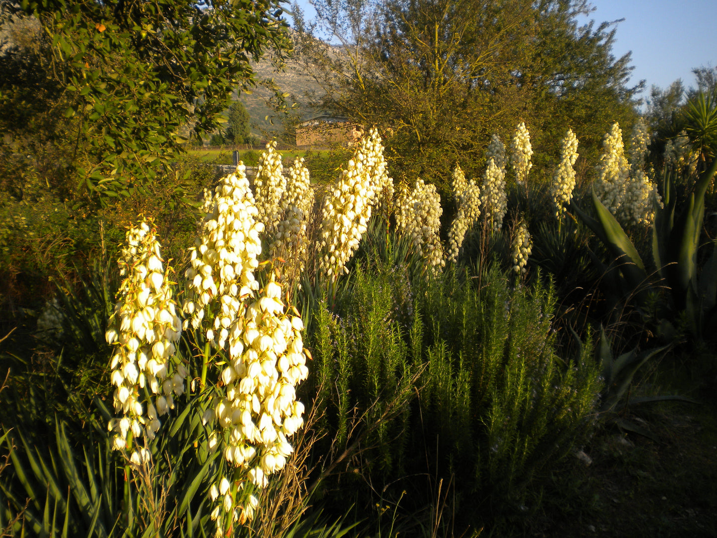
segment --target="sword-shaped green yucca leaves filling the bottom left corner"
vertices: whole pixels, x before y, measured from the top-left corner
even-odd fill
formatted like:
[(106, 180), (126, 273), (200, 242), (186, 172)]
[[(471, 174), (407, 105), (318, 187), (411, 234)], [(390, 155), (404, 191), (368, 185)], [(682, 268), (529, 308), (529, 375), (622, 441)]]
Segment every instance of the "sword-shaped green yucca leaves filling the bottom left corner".
[(3, 522), (22, 511), (13, 531), (48, 537), (154, 537), (179, 529), (191, 536), (201, 525), (211, 528), (203, 489), (217, 453), (206, 443), (194, 446), (201, 421), (190, 407), (168, 420), (170, 435), (148, 445), (152, 463), (132, 466), (113, 452), (103, 428), (110, 414), (96, 403), (103, 418), (83, 430), (57, 420), (45, 447), (19, 428), (9, 432), (3, 450), (17, 448), (12, 475), (0, 479)]

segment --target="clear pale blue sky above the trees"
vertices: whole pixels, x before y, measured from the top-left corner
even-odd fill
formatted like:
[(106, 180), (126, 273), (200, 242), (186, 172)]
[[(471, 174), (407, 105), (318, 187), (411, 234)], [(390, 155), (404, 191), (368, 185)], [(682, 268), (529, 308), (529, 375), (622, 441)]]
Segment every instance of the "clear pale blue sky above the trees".
[[(585, 19), (625, 19), (617, 26), (615, 57), (632, 51), (630, 83), (642, 79), (650, 86), (666, 88), (681, 78), (693, 85), (694, 67), (717, 66), (717, 0), (593, 0), (595, 11)], [(309, 18), (308, 0), (299, 0)]]

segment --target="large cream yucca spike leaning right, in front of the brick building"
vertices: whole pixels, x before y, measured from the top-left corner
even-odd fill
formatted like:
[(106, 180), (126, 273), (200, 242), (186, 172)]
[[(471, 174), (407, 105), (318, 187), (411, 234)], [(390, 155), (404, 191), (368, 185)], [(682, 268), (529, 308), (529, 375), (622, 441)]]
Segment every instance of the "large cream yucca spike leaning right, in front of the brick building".
[(320, 242), (323, 256), (319, 259), (319, 270), (331, 280), (348, 273), (346, 263), (359, 247), (371, 218), (371, 201), (375, 196), (371, 180), (376, 155), (364, 153), (363, 147), (362, 141), (333, 192), (323, 202)]

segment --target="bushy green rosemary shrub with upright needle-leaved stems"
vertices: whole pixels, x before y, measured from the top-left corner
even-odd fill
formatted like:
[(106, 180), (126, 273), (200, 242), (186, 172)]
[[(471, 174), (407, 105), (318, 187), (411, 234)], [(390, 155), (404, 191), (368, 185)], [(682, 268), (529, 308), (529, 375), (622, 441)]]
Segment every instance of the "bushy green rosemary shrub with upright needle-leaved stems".
[(451, 481), (460, 506), (478, 501), (471, 523), (510, 513), (589, 435), (600, 390), (592, 346), (559, 357), (552, 287), (511, 290), (494, 267), (480, 288), (465, 270), (418, 273), (404, 288), (400, 261), (364, 252), (333, 312), (324, 301), (314, 313), (317, 405), (339, 445), (318, 454), (348, 450), (350, 465), (331, 467), (346, 473), (338, 483), (361, 477), (386, 498), (409, 483), (422, 491), (416, 477), (428, 472)]

